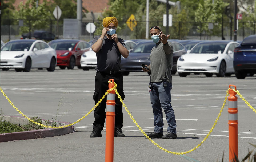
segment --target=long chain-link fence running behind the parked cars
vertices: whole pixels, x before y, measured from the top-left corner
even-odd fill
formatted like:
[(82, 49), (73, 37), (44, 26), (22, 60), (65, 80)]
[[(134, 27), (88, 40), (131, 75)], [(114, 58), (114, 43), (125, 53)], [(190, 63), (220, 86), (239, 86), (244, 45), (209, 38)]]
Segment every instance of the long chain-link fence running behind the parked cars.
[[(63, 38), (63, 20), (45, 19), (40, 20), (47, 24), (45, 28), (33, 27), (35, 20), (18, 20), (18, 19), (1, 19), (1, 40), (7, 42), (8, 40), (20, 39), (22, 27), (27, 27), (31, 31), (44, 30), (53, 33), (59, 38)], [(96, 34), (101, 34), (102, 23), (93, 22), (96, 26), (94, 33), (86, 31), (86, 25), (91, 21), (81, 21), (81, 34), (79, 39), (90, 41)], [(172, 22), (172, 26), (168, 27), (170, 39), (199, 39), (199, 40), (232, 40), (234, 23), (230, 22)], [(166, 27), (163, 27), (162, 20), (149, 21), (150, 26), (160, 26), (162, 31), (166, 34)], [(133, 31), (126, 25), (126, 21), (119, 21), (117, 34), (122, 39), (145, 39), (146, 37), (146, 21), (137, 21), (137, 25)], [(239, 20), (237, 30), (237, 40), (255, 34), (256, 22), (243, 22)], [(98, 32), (97, 32), (98, 31)], [(149, 34), (149, 31), (148, 31)], [(150, 34), (149, 34), (150, 39)]]

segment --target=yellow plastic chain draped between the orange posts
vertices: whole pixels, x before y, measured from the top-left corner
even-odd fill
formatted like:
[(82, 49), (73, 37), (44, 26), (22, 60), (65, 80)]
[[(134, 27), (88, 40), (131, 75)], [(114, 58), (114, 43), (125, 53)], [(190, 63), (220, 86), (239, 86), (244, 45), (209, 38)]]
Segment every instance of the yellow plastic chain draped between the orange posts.
[[(16, 108), (15, 105), (13, 105), (13, 103), (12, 103), (12, 102), (10, 101), (10, 99), (5, 95), (5, 93), (3, 92), (3, 90), (2, 90), (1, 87), (0, 87), (0, 90), (1, 90), (1, 92), (2, 92), (2, 94), (3, 94), (3, 96), (5, 96), (5, 98), (8, 100), (8, 102), (13, 106), (13, 108), (15, 108), (22, 116), (24, 116), (24, 117), (25, 117), (26, 119), (28, 119), (30, 122), (33, 122), (33, 123), (35, 123), (35, 124), (37, 124), (37, 125), (40, 125), (40, 126), (46, 127), (46, 128), (65, 128), (65, 127), (69, 127), (69, 126), (71, 126), (71, 125), (74, 125), (75, 123), (78, 123), (78, 122), (80, 122), (82, 119), (84, 119), (87, 115), (89, 115), (89, 114), (102, 102), (102, 100), (105, 98), (105, 96), (106, 96), (110, 91), (112, 91), (112, 90), (114, 89), (114, 90), (115, 90), (115, 93), (117, 94), (118, 98), (120, 99), (120, 102), (123, 104), (123, 107), (125, 107), (125, 110), (127, 111), (128, 115), (130, 115), (130, 118), (133, 120), (133, 123), (135, 123), (135, 125), (139, 128), (139, 130), (143, 133), (143, 135), (146, 136), (147, 139), (149, 139), (149, 140), (151, 141), (151, 143), (153, 143), (153, 144), (156, 145), (159, 149), (162, 149), (162, 150), (165, 151), (165, 152), (172, 153), (172, 154), (175, 154), (175, 155), (183, 155), (183, 154), (190, 153), (190, 152), (194, 151), (195, 149), (197, 149), (197, 148), (198, 148), (199, 146), (201, 146), (201, 144), (203, 144), (203, 143), (205, 142), (205, 140), (210, 136), (210, 134), (211, 134), (211, 132), (213, 131), (213, 129), (215, 128), (215, 125), (217, 124), (217, 122), (218, 122), (218, 120), (219, 120), (219, 117), (221, 116), (221, 113), (222, 113), (222, 111), (223, 111), (223, 108), (224, 108), (224, 106), (225, 106), (225, 104), (226, 104), (227, 96), (229, 95), (229, 92), (228, 92), (228, 91), (231, 89), (231, 88), (227, 89), (227, 91), (226, 91), (227, 94), (226, 94), (225, 100), (224, 100), (224, 102), (223, 102), (223, 104), (222, 104), (221, 110), (219, 111), (219, 114), (218, 114), (218, 116), (217, 116), (215, 122), (213, 123), (213, 126), (211, 127), (209, 133), (205, 136), (205, 138), (204, 138), (196, 147), (194, 147), (193, 149), (191, 149), (191, 150), (189, 150), (189, 151), (185, 151), (185, 152), (172, 152), (172, 151), (169, 151), (169, 150), (167, 150), (167, 149), (165, 149), (165, 148), (159, 146), (159, 145), (158, 145), (157, 143), (155, 143), (151, 138), (149, 138), (149, 136), (147, 136), (147, 134), (142, 130), (142, 128), (139, 126), (139, 124), (138, 124), (138, 123), (136, 122), (136, 120), (133, 118), (133, 116), (132, 116), (131, 113), (129, 112), (128, 108), (126, 107), (125, 103), (123, 102), (123, 99), (121, 98), (121, 96), (119, 95), (119, 93), (118, 93), (118, 91), (117, 91), (117, 89), (116, 89), (117, 84), (116, 84), (115, 82), (114, 82), (114, 84), (115, 84), (115, 86), (114, 86), (113, 88), (111, 88), (110, 90), (108, 90), (108, 91), (102, 96), (102, 98), (98, 101), (98, 103), (97, 103), (87, 114), (85, 114), (82, 118), (78, 119), (76, 122), (73, 122), (73, 123), (71, 123), (71, 124), (69, 124), (69, 125), (60, 126), (60, 127), (51, 127), (51, 126), (48, 126), (48, 125), (43, 125), (43, 124), (37, 123), (37, 122), (35, 122), (34, 120), (28, 118), (28, 117), (27, 117), (26, 115), (24, 115), (21, 111), (19, 111), (19, 109)], [(256, 110), (251, 106), (250, 103), (248, 103), (248, 102), (245, 100), (245, 98), (243, 98), (243, 96), (240, 94), (240, 92), (239, 92), (238, 90), (235, 90), (235, 89), (232, 89), (232, 90), (235, 91), (235, 92), (240, 96), (240, 98), (242, 98), (242, 100), (245, 101), (245, 103), (256, 113)]]

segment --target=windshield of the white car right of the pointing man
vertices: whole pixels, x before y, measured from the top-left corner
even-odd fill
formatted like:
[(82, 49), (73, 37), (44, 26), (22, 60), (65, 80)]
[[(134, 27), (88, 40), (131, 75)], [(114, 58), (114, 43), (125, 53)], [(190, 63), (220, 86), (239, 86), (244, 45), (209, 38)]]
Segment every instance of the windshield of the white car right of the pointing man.
[(217, 54), (219, 51), (223, 53), (227, 43), (215, 43), (215, 42), (207, 42), (197, 44), (190, 53), (193, 54)]

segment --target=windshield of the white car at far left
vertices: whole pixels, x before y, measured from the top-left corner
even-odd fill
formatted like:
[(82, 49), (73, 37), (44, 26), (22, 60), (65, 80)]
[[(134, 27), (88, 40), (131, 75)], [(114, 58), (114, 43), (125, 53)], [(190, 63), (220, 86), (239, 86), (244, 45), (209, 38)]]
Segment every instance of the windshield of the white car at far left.
[(29, 50), (33, 42), (8, 42), (2, 48), (1, 51), (24, 51)]

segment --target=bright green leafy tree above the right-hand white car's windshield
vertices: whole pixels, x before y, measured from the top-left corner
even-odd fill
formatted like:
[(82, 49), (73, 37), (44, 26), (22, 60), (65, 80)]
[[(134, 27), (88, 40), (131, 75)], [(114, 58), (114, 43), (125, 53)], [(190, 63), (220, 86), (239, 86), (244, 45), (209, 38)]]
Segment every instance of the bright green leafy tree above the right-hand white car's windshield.
[[(202, 4), (200, 3), (195, 12), (195, 21), (202, 23), (201, 31), (207, 35), (219, 35), (222, 14), (228, 5), (229, 3), (222, 0), (205, 0)], [(209, 23), (214, 23), (213, 30), (208, 29)], [(200, 26), (198, 26), (198, 32), (200, 32)]]

